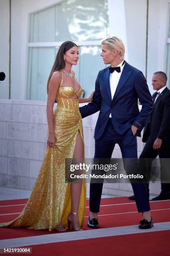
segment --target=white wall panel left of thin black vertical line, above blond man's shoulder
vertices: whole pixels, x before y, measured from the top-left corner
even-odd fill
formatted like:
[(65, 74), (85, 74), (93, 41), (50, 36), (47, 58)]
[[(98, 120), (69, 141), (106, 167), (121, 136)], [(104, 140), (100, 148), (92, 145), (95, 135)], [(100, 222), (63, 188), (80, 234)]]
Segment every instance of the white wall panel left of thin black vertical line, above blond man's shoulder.
[(147, 0), (124, 0), (129, 64), (146, 70)]

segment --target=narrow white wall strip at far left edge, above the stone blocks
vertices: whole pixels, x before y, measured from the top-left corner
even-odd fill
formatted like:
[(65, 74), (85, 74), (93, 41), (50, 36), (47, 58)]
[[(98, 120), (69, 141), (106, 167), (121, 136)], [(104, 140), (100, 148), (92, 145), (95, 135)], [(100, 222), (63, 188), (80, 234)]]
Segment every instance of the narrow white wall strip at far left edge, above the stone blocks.
[(0, 72), (6, 75), (5, 80), (0, 83), (0, 99), (9, 98), (9, 2), (9, 0), (0, 0)]

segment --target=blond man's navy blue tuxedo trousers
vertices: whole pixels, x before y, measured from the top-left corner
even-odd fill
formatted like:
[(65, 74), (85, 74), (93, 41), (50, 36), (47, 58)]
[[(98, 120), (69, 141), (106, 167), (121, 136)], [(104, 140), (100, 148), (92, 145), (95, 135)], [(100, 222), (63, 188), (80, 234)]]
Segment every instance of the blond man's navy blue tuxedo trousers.
[[(111, 158), (115, 144), (118, 143), (122, 158), (137, 158), (137, 138), (129, 129), (124, 135), (118, 134), (109, 118), (101, 138), (95, 140), (94, 158)], [(125, 168), (126, 171), (126, 168)], [(131, 183), (138, 212), (150, 210), (146, 184)], [(90, 211), (99, 212), (103, 183), (90, 184)]]

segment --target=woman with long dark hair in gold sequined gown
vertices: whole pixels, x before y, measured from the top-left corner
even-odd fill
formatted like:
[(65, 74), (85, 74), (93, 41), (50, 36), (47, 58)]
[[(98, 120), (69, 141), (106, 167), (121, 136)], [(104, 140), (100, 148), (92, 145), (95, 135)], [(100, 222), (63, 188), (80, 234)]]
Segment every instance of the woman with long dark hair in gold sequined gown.
[[(79, 102), (82, 88), (76, 82), (72, 65), (79, 59), (79, 49), (64, 42), (56, 56), (48, 79), (48, 141), (46, 154), (23, 211), (13, 221), (0, 227), (65, 231), (68, 223), (83, 230), (86, 205), (86, 183), (65, 183), (65, 159), (84, 158), (84, 137)], [(54, 102), (58, 105), (53, 113)]]

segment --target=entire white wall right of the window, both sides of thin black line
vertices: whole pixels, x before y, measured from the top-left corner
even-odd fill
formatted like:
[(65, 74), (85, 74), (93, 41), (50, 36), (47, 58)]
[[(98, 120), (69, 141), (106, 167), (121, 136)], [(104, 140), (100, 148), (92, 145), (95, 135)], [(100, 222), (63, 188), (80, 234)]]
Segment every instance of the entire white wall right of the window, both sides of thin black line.
[[(146, 0), (108, 0), (110, 33), (120, 36), (125, 44), (125, 59), (144, 75), (146, 70)], [(170, 0), (149, 0), (147, 84), (152, 89), (152, 75), (156, 71), (166, 72), (167, 31), (169, 26)], [(170, 79), (170, 78), (168, 78)]]

